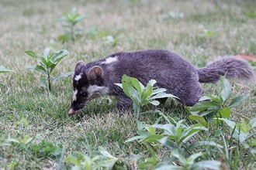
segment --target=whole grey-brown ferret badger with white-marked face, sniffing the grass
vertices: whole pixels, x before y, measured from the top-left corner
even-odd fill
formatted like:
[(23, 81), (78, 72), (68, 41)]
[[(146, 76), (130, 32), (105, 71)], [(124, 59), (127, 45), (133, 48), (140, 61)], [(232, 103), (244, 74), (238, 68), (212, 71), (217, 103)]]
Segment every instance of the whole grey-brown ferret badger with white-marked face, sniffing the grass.
[(165, 88), (179, 98), (182, 104), (192, 106), (199, 101), (203, 90), (200, 83), (212, 83), (220, 76), (239, 80), (255, 80), (247, 61), (234, 56), (216, 59), (203, 68), (196, 68), (178, 54), (162, 49), (148, 49), (115, 53), (85, 65), (80, 61), (74, 68), (73, 99), (68, 114), (75, 114), (88, 101), (103, 95), (113, 95), (116, 107), (124, 109), (132, 100), (115, 83), (121, 83), (123, 74), (140, 80), (144, 85), (157, 80), (157, 87)]

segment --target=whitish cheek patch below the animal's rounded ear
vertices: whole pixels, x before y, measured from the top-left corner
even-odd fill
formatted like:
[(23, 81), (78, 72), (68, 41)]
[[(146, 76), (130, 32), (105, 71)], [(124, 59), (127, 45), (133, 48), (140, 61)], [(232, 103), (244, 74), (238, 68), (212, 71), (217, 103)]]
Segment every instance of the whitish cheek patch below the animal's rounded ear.
[(99, 87), (97, 85), (91, 85), (88, 87), (88, 98), (92, 99), (100, 97), (109, 93), (108, 87)]

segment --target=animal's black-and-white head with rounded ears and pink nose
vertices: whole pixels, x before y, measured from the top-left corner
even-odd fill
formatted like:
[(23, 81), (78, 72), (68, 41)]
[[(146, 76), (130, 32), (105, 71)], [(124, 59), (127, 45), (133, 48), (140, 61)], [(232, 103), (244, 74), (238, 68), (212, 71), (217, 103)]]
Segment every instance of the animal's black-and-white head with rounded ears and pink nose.
[(87, 68), (84, 62), (79, 61), (74, 68), (73, 99), (68, 114), (75, 114), (77, 110), (85, 107), (89, 100), (107, 94), (109, 90), (103, 85), (102, 68), (100, 66)]

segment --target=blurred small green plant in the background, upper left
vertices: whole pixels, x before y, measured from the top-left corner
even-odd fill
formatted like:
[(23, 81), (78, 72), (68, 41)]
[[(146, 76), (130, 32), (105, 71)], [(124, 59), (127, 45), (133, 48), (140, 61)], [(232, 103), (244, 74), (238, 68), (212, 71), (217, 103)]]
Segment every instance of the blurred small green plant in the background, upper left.
[(61, 18), (64, 33), (61, 34), (58, 39), (64, 43), (69, 40), (74, 42), (76, 39), (80, 38), (82, 29), (76, 29), (75, 26), (83, 19), (85, 19), (85, 17), (78, 14), (75, 8), (73, 8), (71, 12), (64, 13), (64, 16)]

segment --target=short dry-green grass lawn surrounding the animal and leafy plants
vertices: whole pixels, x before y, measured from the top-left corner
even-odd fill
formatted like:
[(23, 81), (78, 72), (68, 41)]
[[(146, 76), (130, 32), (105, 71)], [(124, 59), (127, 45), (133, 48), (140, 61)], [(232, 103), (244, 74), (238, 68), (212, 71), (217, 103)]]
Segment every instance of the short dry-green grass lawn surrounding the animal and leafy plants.
[[(1, 0), (0, 65), (14, 73), (0, 73), (0, 169), (68, 169), (71, 164), (64, 163), (63, 157), (74, 151), (99, 155), (99, 146), (130, 162), (133, 168), (152, 156), (163, 160), (170, 155), (168, 149), (160, 146), (125, 144), (128, 138), (137, 135), (137, 117), (132, 110), (116, 111), (116, 101), (112, 98), (111, 103), (106, 98), (92, 100), (78, 116), (68, 117), (72, 78), (58, 80), (48, 93), (39, 85), (40, 73), (26, 68), (36, 64), (24, 53), (26, 50), (43, 53), (50, 42), (57, 50), (67, 49), (69, 54), (61, 60), (54, 75), (73, 71), (78, 60), (88, 63), (135, 49), (173, 50), (200, 67), (218, 56), (256, 56), (255, 6), (253, 0)], [(81, 39), (61, 43), (57, 40), (62, 33), (58, 19), (72, 8), (85, 15), (77, 25), (84, 31)], [(249, 93), (249, 97), (232, 110), (231, 119), (253, 119), (256, 117), (255, 85), (232, 84), (233, 97), (241, 93)], [(203, 87), (206, 93), (215, 93), (220, 90), (220, 83)], [(192, 123), (185, 107), (171, 100), (160, 109), (175, 120)], [(154, 124), (156, 119), (157, 115), (140, 117), (147, 124)], [(223, 145), (214, 134), (211, 131), (201, 136)], [(221, 161), (220, 155), (213, 158)]]

